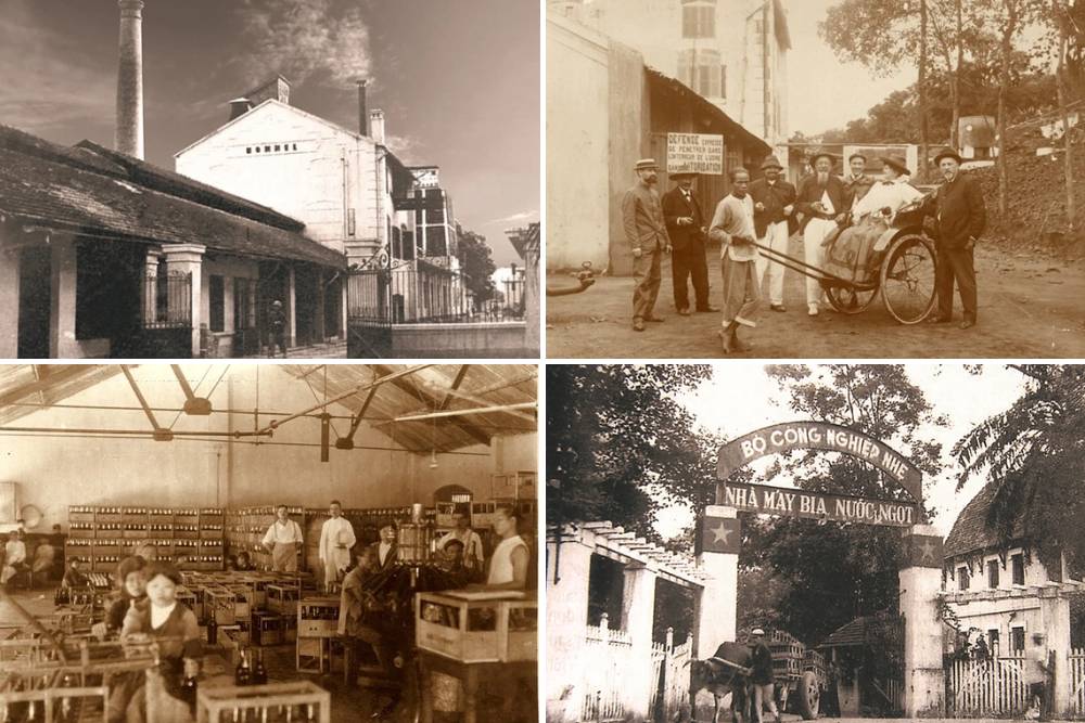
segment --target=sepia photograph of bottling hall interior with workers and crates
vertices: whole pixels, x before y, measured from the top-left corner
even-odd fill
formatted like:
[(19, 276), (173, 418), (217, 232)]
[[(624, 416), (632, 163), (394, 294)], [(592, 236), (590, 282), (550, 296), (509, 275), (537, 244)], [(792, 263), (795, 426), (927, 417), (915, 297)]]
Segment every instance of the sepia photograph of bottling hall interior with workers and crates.
[(537, 374), (0, 365), (0, 722), (537, 720)]

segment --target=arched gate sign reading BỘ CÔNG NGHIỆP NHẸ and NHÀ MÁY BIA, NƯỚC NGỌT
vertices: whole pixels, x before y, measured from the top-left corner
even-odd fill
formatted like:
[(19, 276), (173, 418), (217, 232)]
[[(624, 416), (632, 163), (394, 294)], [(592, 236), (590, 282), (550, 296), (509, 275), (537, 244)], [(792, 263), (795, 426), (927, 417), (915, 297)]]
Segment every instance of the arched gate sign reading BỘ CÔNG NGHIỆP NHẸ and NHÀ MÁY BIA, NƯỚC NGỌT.
[[(727, 483), (736, 469), (768, 454), (791, 450), (840, 452), (864, 460), (898, 482), (912, 502), (871, 500), (765, 485)], [(888, 444), (855, 429), (827, 422), (790, 422), (756, 429), (719, 448), (716, 504), (758, 512), (842, 522), (910, 527), (919, 525), (922, 473)]]

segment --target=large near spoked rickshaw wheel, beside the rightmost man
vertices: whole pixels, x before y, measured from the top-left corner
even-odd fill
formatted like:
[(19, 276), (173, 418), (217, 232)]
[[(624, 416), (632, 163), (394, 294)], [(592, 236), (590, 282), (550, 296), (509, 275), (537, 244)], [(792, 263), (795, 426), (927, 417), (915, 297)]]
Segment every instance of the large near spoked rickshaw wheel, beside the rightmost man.
[(902, 324), (918, 324), (934, 309), (934, 245), (920, 233), (896, 238), (881, 268), (885, 310)]

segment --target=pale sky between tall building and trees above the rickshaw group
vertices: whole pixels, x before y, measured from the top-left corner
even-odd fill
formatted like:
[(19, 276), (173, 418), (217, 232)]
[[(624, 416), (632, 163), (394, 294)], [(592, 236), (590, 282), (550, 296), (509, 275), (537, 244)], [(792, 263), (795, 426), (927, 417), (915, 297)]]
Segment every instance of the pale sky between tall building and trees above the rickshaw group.
[(861, 118), (894, 90), (916, 81), (915, 67), (875, 77), (858, 63), (844, 63), (818, 37), (818, 24), (840, 0), (789, 0), (788, 115), (791, 131), (813, 135)]

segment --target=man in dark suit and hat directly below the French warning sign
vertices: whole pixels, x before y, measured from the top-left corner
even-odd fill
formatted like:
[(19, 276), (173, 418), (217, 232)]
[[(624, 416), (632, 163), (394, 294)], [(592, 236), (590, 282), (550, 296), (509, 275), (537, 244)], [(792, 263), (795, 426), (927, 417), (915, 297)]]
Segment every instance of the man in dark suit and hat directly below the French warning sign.
[(704, 212), (693, 194), (697, 173), (672, 173), (677, 185), (663, 194), (663, 220), (671, 236), (671, 280), (674, 282), (675, 308), (689, 315), (689, 280), (698, 311), (718, 311), (709, 306), (709, 263), (704, 257), (707, 238)]

